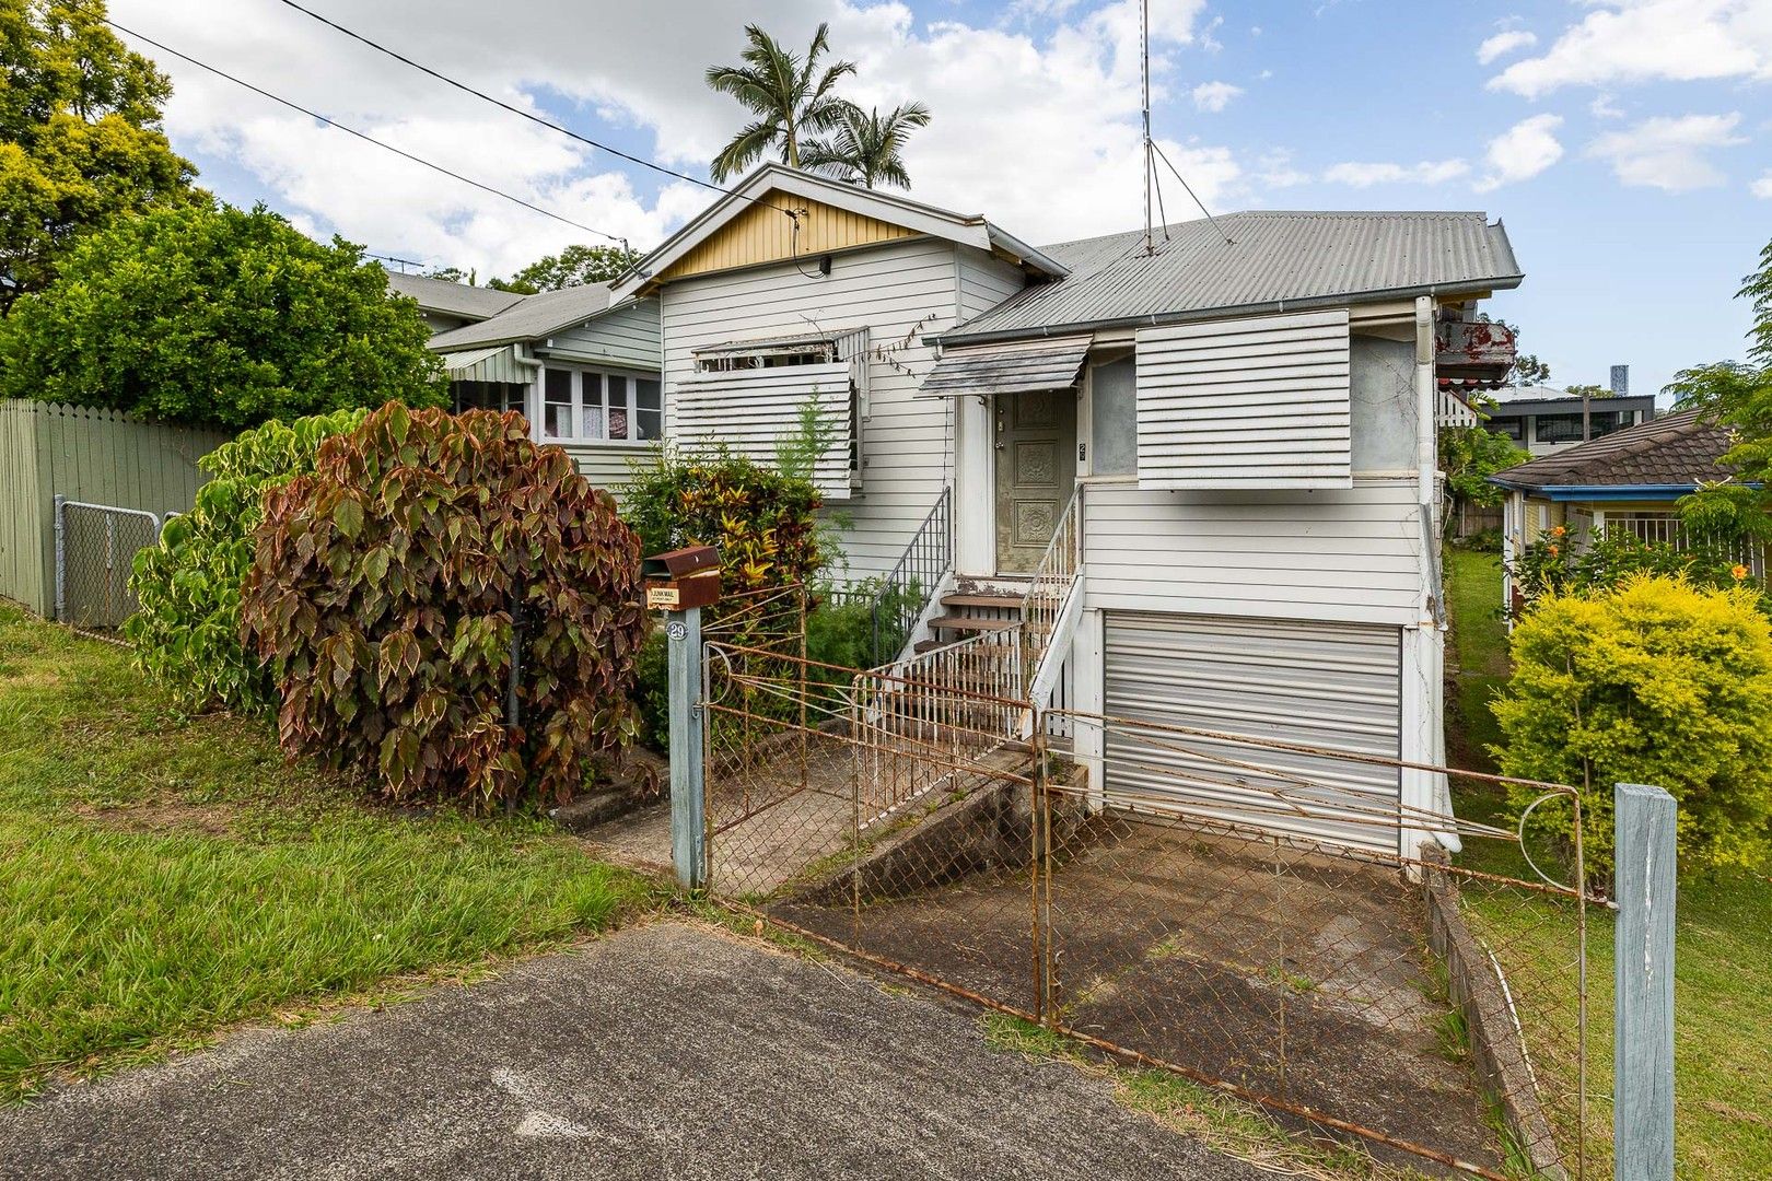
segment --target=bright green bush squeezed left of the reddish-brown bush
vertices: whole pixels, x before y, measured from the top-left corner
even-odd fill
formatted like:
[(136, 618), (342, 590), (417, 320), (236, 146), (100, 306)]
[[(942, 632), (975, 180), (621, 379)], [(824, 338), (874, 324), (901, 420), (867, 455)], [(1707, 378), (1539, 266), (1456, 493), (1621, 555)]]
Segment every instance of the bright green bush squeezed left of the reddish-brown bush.
[(323, 439), (356, 428), (369, 411), (269, 421), (223, 443), (197, 466), (211, 480), (191, 512), (174, 517), (135, 556), (129, 579), (142, 609), (124, 623), (135, 662), (193, 710), (264, 710), (276, 687), (239, 643), (239, 590), (252, 570), (252, 535), (264, 490), (314, 471)]

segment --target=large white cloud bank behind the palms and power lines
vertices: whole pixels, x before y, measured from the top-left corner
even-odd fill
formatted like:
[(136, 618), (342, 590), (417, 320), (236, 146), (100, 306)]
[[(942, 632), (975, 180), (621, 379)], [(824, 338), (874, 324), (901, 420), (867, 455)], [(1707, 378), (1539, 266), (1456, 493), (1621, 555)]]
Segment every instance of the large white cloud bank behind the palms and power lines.
[[(1175, 55), (1200, 46), (1203, 7), (1150, 5), (1159, 104), (1171, 97)], [(278, 5), (112, 0), (112, 11), (181, 51), (636, 246), (657, 243), (711, 200), (705, 189), (498, 112)], [(385, 0), (340, 19), (468, 85), (691, 175), (703, 175), (741, 126), (741, 108), (702, 85), (702, 71), (737, 58), (742, 23), (803, 44), (828, 19), (835, 53), (861, 69), (845, 83), (851, 97), (918, 97), (934, 110), (905, 151), (918, 198), (989, 211), (1035, 241), (1138, 225), (1139, 2), (1058, 0), (1042, 12), (1038, 34), (920, 23), (895, 0), (753, 0), (742, 14), (723, 0), (684, 0), (668, 37), (659, 35), (656, 9), (576, 0)], [(512, 28), (551, 35), (514, 37)], [(167, 108), (174, 143), (211, 161), (218, 188), (243, 200), (262, 195), (303, 227), (482, 274), (595, 241), (158, 57), (175, 87)], [(1214, 209), (1237, 191), (1240, 168), (1228, 149), (1162, 145)]]

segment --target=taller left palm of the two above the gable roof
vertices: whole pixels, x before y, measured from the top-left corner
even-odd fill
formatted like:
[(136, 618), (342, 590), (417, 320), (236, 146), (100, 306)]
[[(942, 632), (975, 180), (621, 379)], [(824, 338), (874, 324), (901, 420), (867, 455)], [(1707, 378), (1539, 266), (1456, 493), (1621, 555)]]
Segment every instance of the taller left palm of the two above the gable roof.
[(781, 151), (781, 163), (799, 168), (801, 136), (829, 131), (836, 124), (843, 103), (831, 90), (843, 74), (856, 73), (856, 64), (836, 62), (819, 73), (819, 58), (831, 48), (829, 30), (829, 25), (819, 25), (801, 58), (757, 25), (746, 25), (750, 48), (739, 55), (744, 64), (707, 67), (709, 87), (730, 94), (757, 115), (757, 122), (732, 136), (732, 143), (709, 165), (714, 181), (748, 170), (771, 149)]

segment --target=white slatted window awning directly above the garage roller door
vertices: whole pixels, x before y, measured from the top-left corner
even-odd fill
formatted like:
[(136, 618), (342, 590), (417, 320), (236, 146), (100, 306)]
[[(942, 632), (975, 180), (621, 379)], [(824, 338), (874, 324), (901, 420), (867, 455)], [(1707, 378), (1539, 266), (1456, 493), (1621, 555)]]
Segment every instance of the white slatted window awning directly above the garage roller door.
[(1138, 331), (1146, 489), (1345, 489), (1347, 308)]

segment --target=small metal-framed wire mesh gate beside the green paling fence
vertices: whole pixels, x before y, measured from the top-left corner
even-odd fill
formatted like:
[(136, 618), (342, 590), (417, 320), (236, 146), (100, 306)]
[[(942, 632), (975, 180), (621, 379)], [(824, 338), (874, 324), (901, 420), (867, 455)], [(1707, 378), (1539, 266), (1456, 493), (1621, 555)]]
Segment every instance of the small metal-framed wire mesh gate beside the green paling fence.
[(117, 629), (140, 606), (129, 590), (136, 551), (159, 542), (158, 513), (55, 499), (55, 618)]

